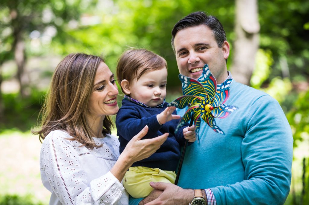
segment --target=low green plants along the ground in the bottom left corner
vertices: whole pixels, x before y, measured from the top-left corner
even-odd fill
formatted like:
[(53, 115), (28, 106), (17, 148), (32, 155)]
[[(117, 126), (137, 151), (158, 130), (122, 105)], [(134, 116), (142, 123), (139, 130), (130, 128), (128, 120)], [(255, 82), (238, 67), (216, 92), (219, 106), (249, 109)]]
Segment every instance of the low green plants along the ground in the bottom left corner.
[(40, 202), (33, 202), (32, 196), (4, 195), (0, 196), (0, 205), (43, 205)]

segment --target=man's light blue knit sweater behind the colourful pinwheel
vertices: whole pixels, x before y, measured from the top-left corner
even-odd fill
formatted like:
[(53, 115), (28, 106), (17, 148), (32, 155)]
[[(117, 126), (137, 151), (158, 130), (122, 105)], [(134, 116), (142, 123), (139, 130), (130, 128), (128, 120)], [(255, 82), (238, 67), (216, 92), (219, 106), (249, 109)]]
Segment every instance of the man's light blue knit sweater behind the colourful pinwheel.
[(201, 124), (200, 143), (187, 148), (178, 185), (210, 188), (218, 205), (283, 204), (290, 190), (293, 138), (279, 103), (233, 81), (225, 104), (239, 107), (216, 119), (225, 135)]

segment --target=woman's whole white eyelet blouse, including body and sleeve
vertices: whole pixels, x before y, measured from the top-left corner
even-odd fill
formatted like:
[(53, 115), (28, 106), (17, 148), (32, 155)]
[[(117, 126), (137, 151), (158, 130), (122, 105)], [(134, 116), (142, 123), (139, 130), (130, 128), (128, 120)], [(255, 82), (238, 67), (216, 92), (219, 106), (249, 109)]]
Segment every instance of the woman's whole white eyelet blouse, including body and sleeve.
[(64, 131), (50, 132), (40, 153), (41, 179), (52, 194), (49, 204), (128, 204), (122, 183), (109, 170), (119, 157), (112, 135), (93, 138), (102, 147), (88, 149)]

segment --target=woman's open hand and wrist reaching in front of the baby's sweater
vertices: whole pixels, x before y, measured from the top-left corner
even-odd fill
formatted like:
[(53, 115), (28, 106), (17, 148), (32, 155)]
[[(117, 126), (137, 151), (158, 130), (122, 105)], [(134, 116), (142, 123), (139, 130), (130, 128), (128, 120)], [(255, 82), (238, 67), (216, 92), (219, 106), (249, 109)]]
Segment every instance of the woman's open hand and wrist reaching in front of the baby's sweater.
[(137, 135), (135, 135), (127, 144), (124, 151), (119, 156), (117, 162), (111, 169), (111, 173), (121, 181), (125, 172), (131, 165), (139, 160), (145, 159), (155, 153), (167, 139), (168, 133), (152, 139), (142, 139), (148, 132), (148, 126), (145, 126)]

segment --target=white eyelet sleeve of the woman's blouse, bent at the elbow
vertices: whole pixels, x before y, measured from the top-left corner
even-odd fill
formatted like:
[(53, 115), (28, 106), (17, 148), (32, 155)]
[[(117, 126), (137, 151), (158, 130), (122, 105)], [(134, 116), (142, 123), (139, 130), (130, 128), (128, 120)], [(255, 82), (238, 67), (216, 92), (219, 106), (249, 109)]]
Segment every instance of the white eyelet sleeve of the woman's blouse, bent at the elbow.
[[(62, 136), (61, 136), (62, 135)], [(62, 204), (115, 204), (124, 187), (111, 172), (90, 180), (65, 133), (51, 132), (42, 144), (40, 167), (43, 184), (49, 183)], [(45, 182), (44, 182), (45, 181)]]

